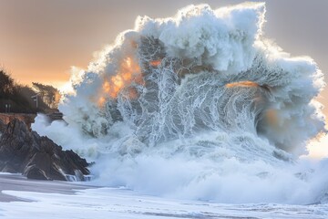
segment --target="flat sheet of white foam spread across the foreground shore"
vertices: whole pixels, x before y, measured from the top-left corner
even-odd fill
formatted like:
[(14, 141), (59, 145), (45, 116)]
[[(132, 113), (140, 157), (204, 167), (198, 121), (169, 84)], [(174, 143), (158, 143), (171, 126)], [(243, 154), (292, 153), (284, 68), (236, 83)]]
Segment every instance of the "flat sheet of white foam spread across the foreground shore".
[[(25, 218), (288, 218), (325, 219), (328, 205), (222, 204), (168, 199), (124, 189), (99, 188), (73, 194), (4, 191), (33, 202), (0, 203), (0, 217)], [(41, 207), (42, 206), (42, 207)], [(19, 209), (19, 210), (17, 210)]]

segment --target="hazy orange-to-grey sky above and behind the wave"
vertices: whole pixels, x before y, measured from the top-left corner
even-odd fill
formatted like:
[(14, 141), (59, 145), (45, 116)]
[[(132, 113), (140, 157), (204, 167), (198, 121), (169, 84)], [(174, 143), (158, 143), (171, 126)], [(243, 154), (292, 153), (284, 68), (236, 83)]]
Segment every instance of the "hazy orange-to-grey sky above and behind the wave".
[[(241, 0), (0, 0), (0, 67), (23, 84), (61, 87), (72, 66), (133, 28), (137, 16), (174, 16), (181, 7)], [(265, 36), (292, 56), (310, 56), (328, 74), (328, 1), (267, 0)], [(327, 77), (326, 77), (327, 78)], [(328, 106), (328, 89), (319, 98)], [(326, 115), (328, 110), (324, 109)], [(328, 142), (328, 139), (327, 139)], [(328, 152), (327, 152), (328, 153)]]

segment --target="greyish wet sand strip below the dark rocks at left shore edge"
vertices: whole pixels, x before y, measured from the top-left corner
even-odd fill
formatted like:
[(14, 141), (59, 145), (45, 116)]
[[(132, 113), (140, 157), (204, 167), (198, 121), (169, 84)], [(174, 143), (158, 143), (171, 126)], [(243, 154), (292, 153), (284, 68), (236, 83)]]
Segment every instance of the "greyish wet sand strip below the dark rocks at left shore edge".
[(0, 202), (5, 203), (14, 201), (29, 202), (29, 200), (22, 200), (15, 196), (4, 194), (2, 193), (4, 190), (74, 194), (76, 193), (75, 190), (90, 188), (95, 187), (70, 182), (28, 180), (21, 174), (0, 173)]

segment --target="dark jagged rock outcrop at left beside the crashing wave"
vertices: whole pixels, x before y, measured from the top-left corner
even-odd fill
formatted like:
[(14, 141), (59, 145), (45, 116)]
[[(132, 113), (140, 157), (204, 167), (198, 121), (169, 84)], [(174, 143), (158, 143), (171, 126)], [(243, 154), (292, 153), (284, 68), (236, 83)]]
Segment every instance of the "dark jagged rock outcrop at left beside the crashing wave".
[(63, 151), (54, 141), (28, 130), (21, 120), (10, 121), (0, 137), (1, 172), (22, 172), (37, 180), (84, 181), (87, 165), (74, 151)]

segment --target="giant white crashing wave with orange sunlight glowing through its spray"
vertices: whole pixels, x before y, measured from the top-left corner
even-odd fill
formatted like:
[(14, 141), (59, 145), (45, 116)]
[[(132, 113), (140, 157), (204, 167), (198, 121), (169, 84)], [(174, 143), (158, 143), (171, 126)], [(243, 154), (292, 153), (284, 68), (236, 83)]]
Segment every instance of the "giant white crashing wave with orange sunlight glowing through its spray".
[[(300, 162), (324, 131), (323, 73), (262, 32), (263, 3), (138, 17), (34, 129), (96, 161), (99, 184), (224, 203), (323, 200), (325, 162)], [(313, 171), (315, 169), (315, 171)]]

